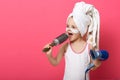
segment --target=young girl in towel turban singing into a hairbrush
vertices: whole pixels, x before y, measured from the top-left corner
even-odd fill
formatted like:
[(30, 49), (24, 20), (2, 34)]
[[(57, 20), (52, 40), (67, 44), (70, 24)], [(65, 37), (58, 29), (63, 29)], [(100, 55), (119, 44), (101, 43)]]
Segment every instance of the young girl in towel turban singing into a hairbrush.
[[(78, 2), (72, 13), (68, 16), (66, 33), (69, 42), (64, 43), (57, 53), (52, 56), (52, 47), (46, 52), (48, 60), (54, 66), (65, 57), (65, 72), (63, 80), (85, 80), (85, 70), (90, 63), (94, 63), (92, 69), (100, 66), (99, 60), (92, 60), (90, 49), (99, 50), (99, 13), (91, 4)], [(89, 80), (89, 73), (86, 76)]]

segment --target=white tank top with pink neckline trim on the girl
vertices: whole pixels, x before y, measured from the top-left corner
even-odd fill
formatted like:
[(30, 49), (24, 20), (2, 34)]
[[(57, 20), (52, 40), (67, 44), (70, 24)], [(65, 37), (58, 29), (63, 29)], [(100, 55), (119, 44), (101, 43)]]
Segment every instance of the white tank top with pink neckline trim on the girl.
[[(90, 63), (89, 45), (86, 44), (81, 52), (75, 53), (68, 44), (65, 63), (63, 80), (85, 80), (85, 70)], [(86, 80), (89, 80), (89, 73), (86, 75)]]

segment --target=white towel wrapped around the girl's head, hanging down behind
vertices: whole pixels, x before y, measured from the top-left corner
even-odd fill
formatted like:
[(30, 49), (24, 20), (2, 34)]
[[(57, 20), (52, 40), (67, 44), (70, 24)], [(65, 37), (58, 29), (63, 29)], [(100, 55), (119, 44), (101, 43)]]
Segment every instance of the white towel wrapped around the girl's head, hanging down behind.
[(78, 2), (75, 4), (72, 13), (68, 16), (73, 16), (73, 20), (77, 25), (81, 36), (87, 32), (87, 42), (96, 49), (99, 49), (99, 27), (100, 18), (97, 9), (85, 2)]

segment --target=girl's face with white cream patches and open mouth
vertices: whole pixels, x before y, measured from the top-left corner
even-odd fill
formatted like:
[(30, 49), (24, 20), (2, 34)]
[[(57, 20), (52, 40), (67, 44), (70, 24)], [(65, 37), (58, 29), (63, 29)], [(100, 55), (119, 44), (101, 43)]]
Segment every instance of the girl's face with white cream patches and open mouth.
[(66, 27), (66, 33), (68, 34), (69, 40), (71, 42), (73, 42), (73, 41), (75, 41), (75, 40), (77, 40), (81, 37), (80, 32), (79, 32), (79, 30), (78, 30), (78, 28), (77, 28), (77, 26), (76, 26), (72, 17), (70, 17), (68, 19), (67, 27)]

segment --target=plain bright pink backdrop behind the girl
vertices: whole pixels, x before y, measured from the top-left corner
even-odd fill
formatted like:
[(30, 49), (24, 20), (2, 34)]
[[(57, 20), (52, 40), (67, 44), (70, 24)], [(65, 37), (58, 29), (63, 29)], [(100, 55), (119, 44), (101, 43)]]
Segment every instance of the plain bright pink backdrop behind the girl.
[[(42, 48), (65, 31), (66, 18), (77, 1), (0, 0), (0, 80), (62, 80), (64, 58), (53, 67)], [(110, 55), (91, 72), (91, 80), (120, 80), (120, 1), (84, 1), (100, 12), (100, 49)]]

